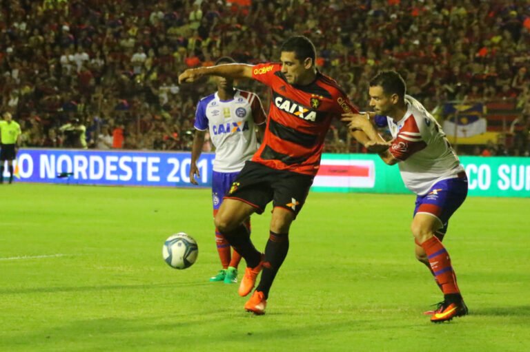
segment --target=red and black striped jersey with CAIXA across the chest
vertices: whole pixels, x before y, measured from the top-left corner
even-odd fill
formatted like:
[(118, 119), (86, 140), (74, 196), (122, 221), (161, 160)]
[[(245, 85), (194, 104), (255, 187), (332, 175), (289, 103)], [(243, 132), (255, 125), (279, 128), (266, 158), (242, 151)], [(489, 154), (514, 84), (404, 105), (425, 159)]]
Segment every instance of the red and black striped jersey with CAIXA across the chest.
[(279, 63), (253, 67), (253, 79), (271, 87), (264, 140), (252, 161), (279, 170), (315, 175), (333, 118), (357, 113), (336, 81), (317, 72), (309, 85), (291, 85)]

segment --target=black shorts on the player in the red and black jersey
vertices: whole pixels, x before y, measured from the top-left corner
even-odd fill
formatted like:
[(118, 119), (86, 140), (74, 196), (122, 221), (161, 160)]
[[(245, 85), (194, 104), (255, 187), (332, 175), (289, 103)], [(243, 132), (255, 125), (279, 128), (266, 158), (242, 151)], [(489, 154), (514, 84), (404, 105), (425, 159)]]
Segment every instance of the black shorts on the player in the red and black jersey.
[(235, 178), (225, 198), (242, 200), (262, 214), (273, 200), (273, 207), (300, 212), (315, 176), (276, 170), (253, 161), (247, 161)]

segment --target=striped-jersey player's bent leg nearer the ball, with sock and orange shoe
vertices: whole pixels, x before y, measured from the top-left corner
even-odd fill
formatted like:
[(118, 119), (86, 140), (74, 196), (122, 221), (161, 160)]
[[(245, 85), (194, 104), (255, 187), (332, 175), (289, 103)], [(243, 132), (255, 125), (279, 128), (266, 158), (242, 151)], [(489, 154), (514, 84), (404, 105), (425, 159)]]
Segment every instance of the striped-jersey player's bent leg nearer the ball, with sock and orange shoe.
[(257, 275), (262, 270), (262, 253), (254, 247), (250, 231), (244, 224), (255, 210), (255, 207), (242, 200), (225, 198), (215, 216), (215, 227), (246, 260), (245, 274), (239, 285), (239, 296), (246, 296), (252, 291)]

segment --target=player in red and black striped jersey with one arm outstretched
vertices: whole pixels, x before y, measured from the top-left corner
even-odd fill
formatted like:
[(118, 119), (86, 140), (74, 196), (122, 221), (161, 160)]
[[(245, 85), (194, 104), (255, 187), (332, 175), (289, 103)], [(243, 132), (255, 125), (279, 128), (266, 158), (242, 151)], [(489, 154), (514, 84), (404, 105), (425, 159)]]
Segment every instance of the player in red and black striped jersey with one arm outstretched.
[[(291, 37), (281, 48), (281, 63), (228, 64), (186, 70), (179, 82), (201, 76), (255, 79), (271, 87), (272, 101), (264, 141), (247, 161), (215, 216), (215, 225), (246, 260), (247, 268), (239, 295), (252, 291), (262, 276), (247, 311), (263, 314), (279, 267), (287, 256), (288, 231), (304, 205), (313, 178), (320, 167), (324, 137), (333, 121), (357, 110), (337, 83), (315, 67), (315, 46), (302, 36)], [(353, 132), (361, 143), (380, 138)], [(262, 214), (273, 201), (270, 234), (262, 254), (250, 240), (244, 220)]]

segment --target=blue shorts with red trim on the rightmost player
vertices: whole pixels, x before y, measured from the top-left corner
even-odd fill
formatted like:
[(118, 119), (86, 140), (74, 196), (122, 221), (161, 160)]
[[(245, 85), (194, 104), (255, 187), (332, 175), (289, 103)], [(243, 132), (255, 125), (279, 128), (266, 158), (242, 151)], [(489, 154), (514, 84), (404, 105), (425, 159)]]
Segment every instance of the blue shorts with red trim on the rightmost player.
[(464, 203), (467, 196), (467, 176), (464, 173), (457, 178), (438, 181), (424, 196), (416, 198), (414, 215), (427, 213), (435, 216), (443, 225), (438, 234), (447, 232), (449, 218)]

